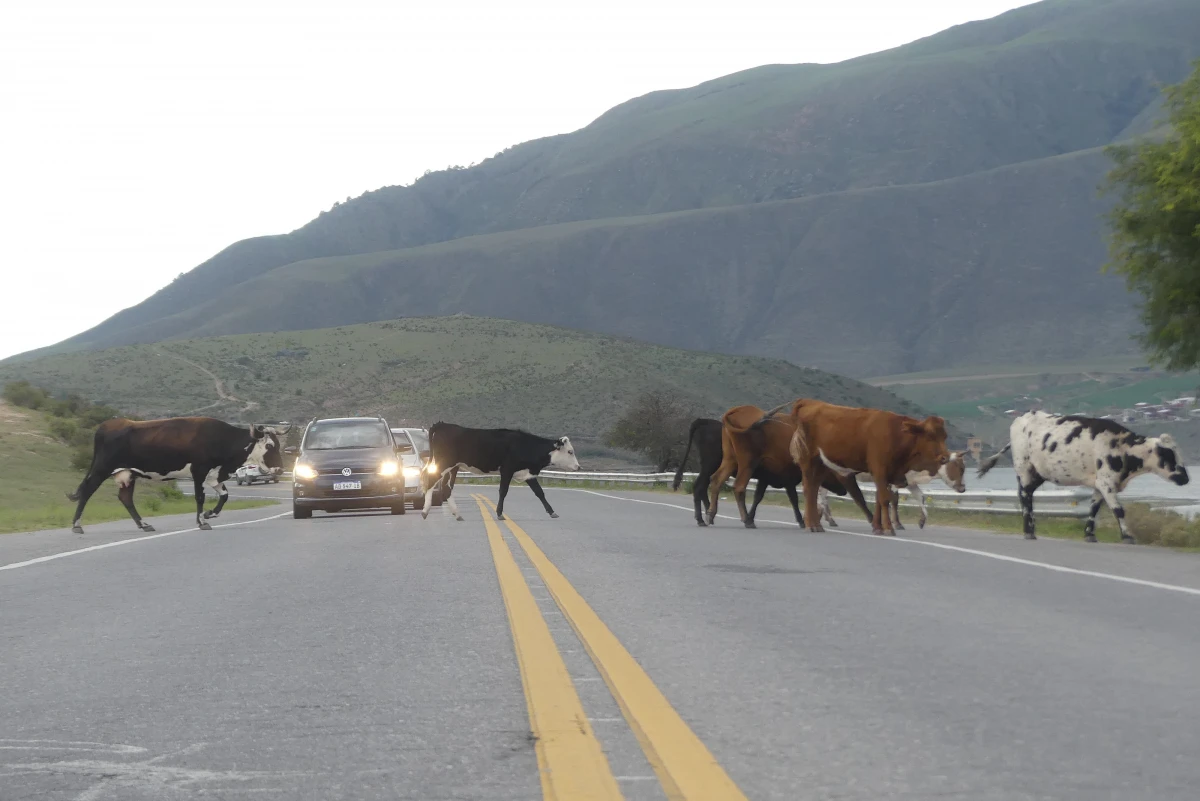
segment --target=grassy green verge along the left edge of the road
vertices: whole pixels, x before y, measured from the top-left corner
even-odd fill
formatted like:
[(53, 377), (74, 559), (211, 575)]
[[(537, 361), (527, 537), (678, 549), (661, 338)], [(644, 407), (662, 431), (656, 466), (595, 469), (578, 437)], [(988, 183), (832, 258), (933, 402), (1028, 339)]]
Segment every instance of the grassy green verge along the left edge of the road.
[[(0, 401), (0, 534), (68, 528), (74, 507), (66, 499), (83, 474), (70, 466), (71, 448), (47, 434), (44, 415)], [(172, 487), (139, 483), (133, 502), (144, 518), (196, 510), (196, 501)], [(269, 506), (271, 501), (236, 500), (227, 510)], [(208, 505), (210, 508), (211, 502)], [(128, 519), (116, 489), (104, 484), (84, 510), (83, 523)], [(133, 531), (133, 522), (130, 520)]]

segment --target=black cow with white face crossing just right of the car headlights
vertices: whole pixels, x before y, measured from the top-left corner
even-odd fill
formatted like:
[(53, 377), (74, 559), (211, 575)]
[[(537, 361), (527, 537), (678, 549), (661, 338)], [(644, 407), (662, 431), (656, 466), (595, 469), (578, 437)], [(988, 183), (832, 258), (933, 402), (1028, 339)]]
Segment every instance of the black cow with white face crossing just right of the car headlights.
[[(546, 468), (559, 470), (578, 470), (571, 440), (560, 436), (547, 439), (512, 428), (464, 428), (454, 423), (437, 422), (430, 427), (430, 451), (432, 458), (428, 468), (421, 474), (421, 488), (425, 490), (425, 506), (421, 518), (430, 516), (433, 505), (433, 493), (438, 484), (445, 484), (444, 502), (456, 519), (462, 520), (458, 506), (454, 501), (454, 482), (458, 469), (463, 468), (478, 475), (500, 474), (500, 500), (496, 505), (496, 517), (504, 519), (504, 496), (509, 494), (509, 484), (514, 478), (529, 484), (551, 517), (558, 517), (546, 500), (546, 493), (538, 483), (538, 474)], [(437, 476), (437, 478), (434, 478)]]

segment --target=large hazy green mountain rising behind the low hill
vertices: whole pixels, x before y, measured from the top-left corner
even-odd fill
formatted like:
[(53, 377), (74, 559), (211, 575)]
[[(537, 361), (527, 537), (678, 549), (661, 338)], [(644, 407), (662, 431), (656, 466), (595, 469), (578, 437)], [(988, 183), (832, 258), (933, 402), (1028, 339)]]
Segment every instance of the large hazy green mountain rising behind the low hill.
[(1100, 149), (1196, 56), (1195, 0), (1046, 0), (652, 92), (234, 243), (50, 350), (463, 312), (851, 375), (1133, 353)]

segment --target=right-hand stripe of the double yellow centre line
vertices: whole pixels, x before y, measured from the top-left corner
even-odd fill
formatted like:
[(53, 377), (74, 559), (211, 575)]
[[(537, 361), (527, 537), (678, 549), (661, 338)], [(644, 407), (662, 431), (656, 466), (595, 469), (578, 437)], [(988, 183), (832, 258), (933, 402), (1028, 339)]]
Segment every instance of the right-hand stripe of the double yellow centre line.
[[(476, 496), (484, 501), (482, 496)], [(487, 505), (494, 511), (491, 501)], [(484, 519), (491, 522), (487, 512)], [(511, 519), (505, 525), (529, 556), (559, 609), (608, 685), (622, 715), (671, 801), (746, 801), (708, 747), (684, 723), (646, 670), (593, 612), (541, 548)]]

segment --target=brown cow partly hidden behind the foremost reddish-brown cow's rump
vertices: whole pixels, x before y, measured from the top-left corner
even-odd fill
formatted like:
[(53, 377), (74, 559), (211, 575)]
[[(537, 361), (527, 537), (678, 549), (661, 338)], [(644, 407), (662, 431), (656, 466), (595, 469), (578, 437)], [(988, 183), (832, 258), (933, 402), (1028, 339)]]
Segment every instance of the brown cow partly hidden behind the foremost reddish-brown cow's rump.
[[(750, 511), (746, 511), (746, 486), (751, 477), (758, 474), (760, 489), (766, 489), (764, 476), (769, 476), (773, 486), (782, 486), (787, 493), (787, 500), (792, 502), (792, 511), (796, 513), (796, 522), (804, 528), (804, 517), (800, 514), (799, 498), (796, 487), (800, 483), (803, 474), (792, 460), (788, 451), (792, 434), (796, 432), (794, 424), (786, 415), (779, 411), (791, 404), (776, 406), (770, 411), (763, 411), (758, 406), (744, 405), (733, 406), (721, 416), (721, 464), (712, 475), (708, 486), (708, 524), (716, 519), (716, 499), (721, 493), (721, 487), (731, 475), (737, 472), (733, 482), (733, 498), (738, 504), (738, 514), (743, 525), (754, 529), (754, 516), (758, 510), (758, 501), (762, 493), (755, 493), (755, 502)], [(853, 476), (848, 480), (841, 476), (826, 476), (818, 489), (827, 489), (838, 495), (847, 492), (854, 499), (858, 507), (868, 520), (871, 519), (871, 510), (866, 506), (863, 490), (858, 488), (858, 482)], [(697, 505), (698, 506), (698, 505)], [(828, 512), (827, 512), (828, 513)], [(830, 520), (833, 516), (829, 516)]]

